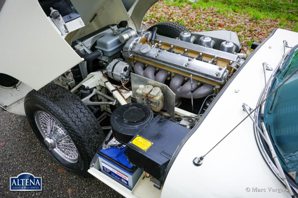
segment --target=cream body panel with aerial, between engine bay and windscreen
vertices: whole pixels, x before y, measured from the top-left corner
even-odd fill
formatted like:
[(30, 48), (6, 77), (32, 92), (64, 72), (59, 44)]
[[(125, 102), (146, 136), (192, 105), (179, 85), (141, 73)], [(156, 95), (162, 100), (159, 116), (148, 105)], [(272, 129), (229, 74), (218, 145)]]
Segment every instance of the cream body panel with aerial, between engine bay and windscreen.
[[(212, 150), (200, 167), (193, 165), (195, 157), (207, 153), (247, 115), (242, 103), (256, 107), (264, 87), (262, 63), (277, 66), (285, 39), (297, 45), (298, 33), (277, 29), (235, 77), (181, 149), (165, 180), (162, 197), (290, 197), (288, 192), (269, 191), (285, 186), (263, 159), (249, 118)], [(267, 80), (272, 72), (266, 71)], [(252, 192), (252, 188), (266, 192)]]

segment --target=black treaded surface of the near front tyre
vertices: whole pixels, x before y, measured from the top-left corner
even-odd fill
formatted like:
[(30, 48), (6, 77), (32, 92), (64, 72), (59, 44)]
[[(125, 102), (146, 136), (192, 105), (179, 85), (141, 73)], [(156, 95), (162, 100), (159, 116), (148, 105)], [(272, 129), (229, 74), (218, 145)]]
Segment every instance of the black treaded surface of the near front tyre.
[(75, 94), (52, 83), (27, 94), (24, 101), (25, 111), (29, 101), (43, 104), (53, 115), (58, 114), (58, 120), (71, 133), (76, 146), (82, 149), (86, 159), (82, 174), (86, 174), (91, 159), (104, 139), (100, 124), (89, 108)]

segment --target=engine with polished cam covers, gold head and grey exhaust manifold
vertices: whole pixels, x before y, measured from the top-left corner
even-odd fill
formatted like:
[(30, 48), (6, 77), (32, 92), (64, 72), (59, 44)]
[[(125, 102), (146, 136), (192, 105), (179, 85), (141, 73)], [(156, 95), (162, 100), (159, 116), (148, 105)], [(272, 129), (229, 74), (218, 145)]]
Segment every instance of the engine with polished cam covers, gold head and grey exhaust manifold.
[(169, 85), (176, 104), (181, 98), (218, 93), (237, 69), (232, 64), (243, 60), (237, 54), (160, 35), (151, 41), (151, 34), (138, 32), (125, 43), (122, 55), (137, 75)]

